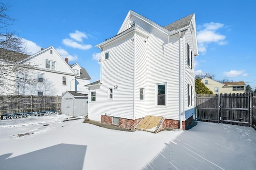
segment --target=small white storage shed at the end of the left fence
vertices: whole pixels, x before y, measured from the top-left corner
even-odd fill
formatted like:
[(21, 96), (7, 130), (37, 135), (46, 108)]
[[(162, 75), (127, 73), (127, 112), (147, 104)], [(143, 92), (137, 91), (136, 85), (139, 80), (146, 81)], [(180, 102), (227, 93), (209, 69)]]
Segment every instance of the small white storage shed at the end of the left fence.
[(88, 94), (66, 91), (61, 96), (61, 111), (73, 117), (88, 115)]

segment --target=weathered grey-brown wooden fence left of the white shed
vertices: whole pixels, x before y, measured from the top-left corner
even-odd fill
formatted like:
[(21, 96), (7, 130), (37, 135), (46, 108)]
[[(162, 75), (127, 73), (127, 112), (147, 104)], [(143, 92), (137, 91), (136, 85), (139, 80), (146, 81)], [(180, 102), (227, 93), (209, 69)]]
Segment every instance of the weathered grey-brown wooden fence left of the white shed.
[(60, 96), (0, 95), (0, 115), (60, 109)]

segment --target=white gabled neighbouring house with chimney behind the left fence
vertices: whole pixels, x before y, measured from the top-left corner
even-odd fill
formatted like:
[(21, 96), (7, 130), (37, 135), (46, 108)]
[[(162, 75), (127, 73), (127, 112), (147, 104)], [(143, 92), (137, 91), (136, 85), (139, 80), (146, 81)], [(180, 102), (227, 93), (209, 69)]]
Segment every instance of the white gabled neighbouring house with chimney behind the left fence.
[[(18, 55), (19, 53), (14, 53)], [(0, 58), (2, 56), (0, 55)], [(7, 58), (8, 59), (8, 58)], [(66, 60), (66, 61), (65, 61)], [(27, 94), (27, 95), (58, 95), (61, 96), (67, 90), (88, 92), (84, 84), (90, 83), (90, 76), (78, 63), (69, 65), (68, 58), (63, 59), (60, 54), (50, 46), (33, 55), (20, 58), (15, 64), (31, 63), (33, 70), (25, 74), (14, 72), (15, 80), (8, 82), (12, 89), (0, 89), (2, 94)], [(8, 62), (6, 59), (2, 62)], [(31, 78), (32, 83), (26, 83), (22, 78)], [(7, 83), (7, 82), (6, 82)]]

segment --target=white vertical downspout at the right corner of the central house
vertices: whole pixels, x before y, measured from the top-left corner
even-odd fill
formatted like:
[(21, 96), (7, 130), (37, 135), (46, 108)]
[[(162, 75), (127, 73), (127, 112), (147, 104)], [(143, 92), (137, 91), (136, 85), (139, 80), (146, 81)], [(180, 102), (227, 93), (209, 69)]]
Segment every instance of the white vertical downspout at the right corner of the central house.
[[(179, 116), (180, 116), (180, 129), (182, 129), (182, 84), (181, 84), (181, 72), (182, 72), (182, 59), (181, 59), (181, 41), (182, 41), (182, 37), (181, 37), (181, 32), (179, 31), (179, 36), (180, 36), (180, 40), (179, 40)], [(183, 76), (183, 74), (182, 74)]]

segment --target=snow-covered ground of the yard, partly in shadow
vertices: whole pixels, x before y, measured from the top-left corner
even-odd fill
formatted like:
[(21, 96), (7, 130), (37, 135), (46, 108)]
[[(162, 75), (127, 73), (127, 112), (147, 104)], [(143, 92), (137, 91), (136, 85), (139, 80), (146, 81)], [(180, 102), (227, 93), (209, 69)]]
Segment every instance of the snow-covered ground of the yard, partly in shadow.
[[(1, 170), (255, 170), (256, 131), (196, 122), (157, 134), (64, 121), (66, 115), (0, 120)], [(22, 135), (23, 134), (23, 135)]]

